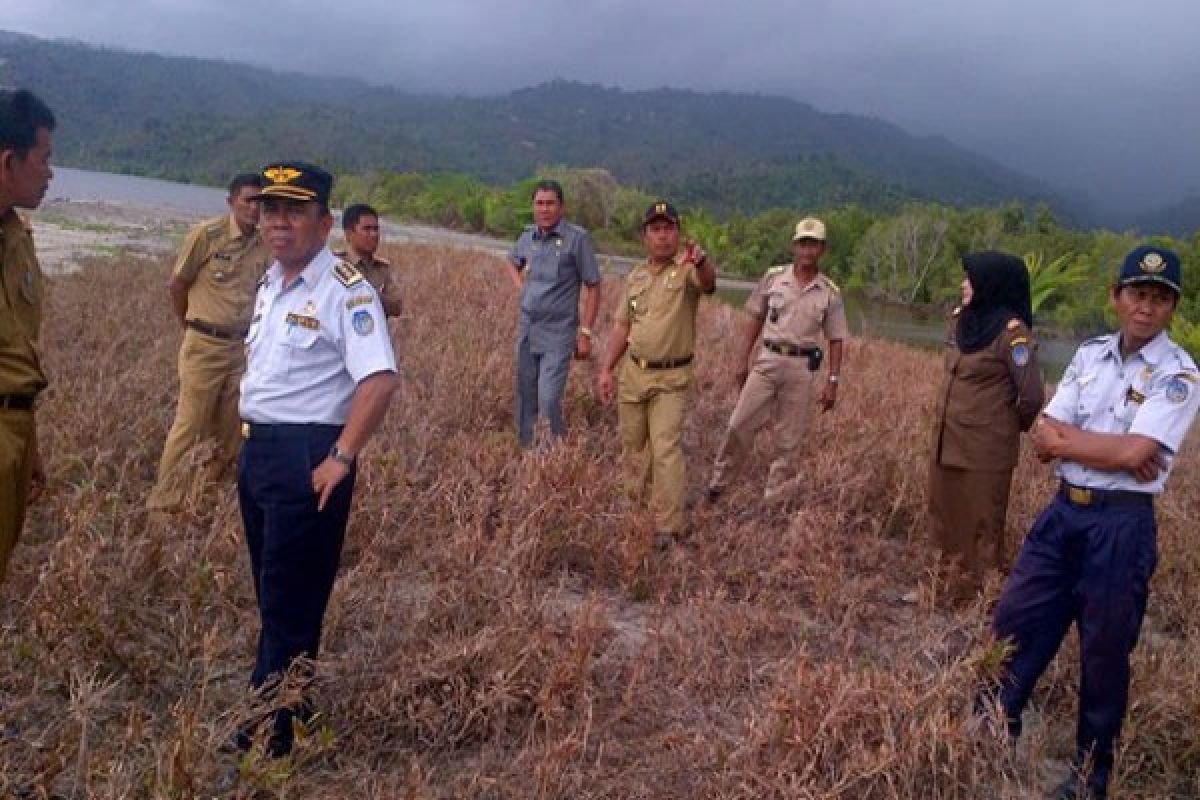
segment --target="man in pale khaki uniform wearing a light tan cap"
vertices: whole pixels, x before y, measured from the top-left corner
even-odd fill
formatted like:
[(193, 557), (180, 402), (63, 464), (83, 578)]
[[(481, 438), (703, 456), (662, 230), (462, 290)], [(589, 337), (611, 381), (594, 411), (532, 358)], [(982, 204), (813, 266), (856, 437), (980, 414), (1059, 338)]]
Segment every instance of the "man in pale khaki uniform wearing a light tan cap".
[(829, 378), (817, 403), (829, 410), (838, 401), (842, 339), (850, 330), (841, 293), (820, 271), (824, 248), (824, 223), (814, 217), (800, 219), (792, 236), (794, 263), (767, 270), (746, 301), (750, 319), (743, 326), (744, 355), (737, 371), (742, 393), (716, 453), (709, 500), (728, 486), (754, 446), (755, 434), (768, 421), (774, 422), (774, 453), (764, 497), (774, 500), (792, 488), (824, 355), (822, 333), (829, 341)]

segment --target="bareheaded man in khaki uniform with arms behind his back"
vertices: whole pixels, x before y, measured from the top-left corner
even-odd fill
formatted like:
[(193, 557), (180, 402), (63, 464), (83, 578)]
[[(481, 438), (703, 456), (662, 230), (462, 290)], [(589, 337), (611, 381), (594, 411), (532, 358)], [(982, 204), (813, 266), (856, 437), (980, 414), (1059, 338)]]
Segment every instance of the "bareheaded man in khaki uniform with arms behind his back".
[[(229, 213), (192, 228), (167, 284), (184, 325), (184, 343), (175, 421), (163, 446), (158, 480), (146, 499), (146, 507), (155, 511), (178, 511), (198, 481), (217, 477), (238, 455), (238, 381), (246, 368), (242, 339), (254, 288), (269, 260), (258, 231), (254, 196), (260, 187), (258, 175), (233, 179)], [(192, 451), (205, 440), (214, 441), (220, 452), (202, 467)]]

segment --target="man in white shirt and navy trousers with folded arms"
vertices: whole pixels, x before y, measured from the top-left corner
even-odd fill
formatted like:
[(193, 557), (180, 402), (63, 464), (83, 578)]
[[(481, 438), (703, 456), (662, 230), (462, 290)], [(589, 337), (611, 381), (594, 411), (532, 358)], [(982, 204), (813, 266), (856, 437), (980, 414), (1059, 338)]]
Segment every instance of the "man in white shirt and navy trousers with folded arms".
[(1034, 449), (1058, 459), (1061, 483), (1021, 547), (994, 627), (1013, 645), (998, 696), (1013, 735), (1068, 627), (1079, 627), (1075, 760), (1058, 800), (1108, 796), (1157, 560), (1154, 495), (1200, 403), (1196, 366), (1165, 332), (1181, 282), (1174, 252), (1132, 251), (1110, 291), (1121, 329), (1080, 345), (1034, 426)]

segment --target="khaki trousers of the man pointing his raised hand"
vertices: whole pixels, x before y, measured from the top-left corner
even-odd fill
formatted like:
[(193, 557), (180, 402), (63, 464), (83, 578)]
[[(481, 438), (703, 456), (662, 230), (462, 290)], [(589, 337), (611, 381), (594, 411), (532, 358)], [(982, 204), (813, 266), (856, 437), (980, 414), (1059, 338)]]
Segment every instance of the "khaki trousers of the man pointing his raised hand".
[(642, 369), (625, 360), (617, 392), (617, 422), (625, 468), (625, 492), (640, 500), (650, 488), (660, 534), (680, 535), (688, 489), (683, 420), (691, 368)]

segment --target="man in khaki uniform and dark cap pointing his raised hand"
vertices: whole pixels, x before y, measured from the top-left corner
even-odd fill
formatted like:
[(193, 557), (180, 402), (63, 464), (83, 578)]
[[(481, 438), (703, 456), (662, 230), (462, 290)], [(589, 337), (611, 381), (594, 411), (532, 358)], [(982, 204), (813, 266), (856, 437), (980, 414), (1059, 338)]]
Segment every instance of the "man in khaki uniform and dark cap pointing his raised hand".
[[(647, 259), (625, 278), (598, 383), (606, 404), (617, 397), (626, 492), (640, 498), (650, 481), (659, 543), (670, 543), (685, 527), (683, 417), (691, 385), (696, 309), (701, 294), (716, 289), (716, 271), (694, 242), (688, 242), (680, 257), (679, 215), (670, 203), (654, 203), (646, 210), (642, 243)], [(622, 361), (626, 350), (629, 357)]]

